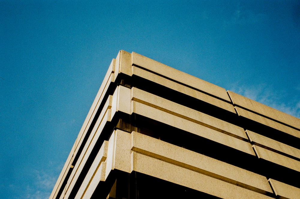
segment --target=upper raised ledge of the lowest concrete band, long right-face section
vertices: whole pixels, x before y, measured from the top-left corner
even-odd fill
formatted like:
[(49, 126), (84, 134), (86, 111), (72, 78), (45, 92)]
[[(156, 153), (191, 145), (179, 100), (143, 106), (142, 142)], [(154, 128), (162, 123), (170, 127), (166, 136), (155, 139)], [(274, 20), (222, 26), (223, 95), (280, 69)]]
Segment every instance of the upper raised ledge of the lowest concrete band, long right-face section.
[(131, 133), (131, 150), (262, 194), (273, 193), (265, 176), (135, 131)]

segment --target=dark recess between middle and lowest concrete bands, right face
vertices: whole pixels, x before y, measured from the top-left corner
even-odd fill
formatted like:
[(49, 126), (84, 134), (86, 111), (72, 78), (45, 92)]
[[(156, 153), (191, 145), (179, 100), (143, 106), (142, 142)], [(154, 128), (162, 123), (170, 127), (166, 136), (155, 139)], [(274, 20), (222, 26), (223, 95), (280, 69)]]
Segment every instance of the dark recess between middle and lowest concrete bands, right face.
[[(135, 115), (138, 132), (300, 188), (300, 173), (170, 125)], [(278, 173), (278, 170), (280, 172)], [(291, 177), (293, 176), (293, 177)]]

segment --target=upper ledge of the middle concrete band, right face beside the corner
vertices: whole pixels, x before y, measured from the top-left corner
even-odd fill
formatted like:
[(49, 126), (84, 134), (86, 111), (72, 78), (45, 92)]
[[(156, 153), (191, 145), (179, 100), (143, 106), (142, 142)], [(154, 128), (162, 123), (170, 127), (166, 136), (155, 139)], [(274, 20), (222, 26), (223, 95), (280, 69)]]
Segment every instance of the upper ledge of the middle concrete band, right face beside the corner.
[(195, 122), (208, 128), (212, 128), (216, 131), (229, 134), (233, 137), (237, 137), (238, 139), (248, 140), (243, 128), (233, 125), (229, 122), (225, 122), (221, 119), (217, 119), (213, 116), (201, 113), (181, 104), (177, 104), (173, 101), (143, 91), (141, 89), (132, 88), (131, 96), (132, 100), (140, 102), (147, 106), (154, 107), (172, 115), (187, 119), (191, 122)]

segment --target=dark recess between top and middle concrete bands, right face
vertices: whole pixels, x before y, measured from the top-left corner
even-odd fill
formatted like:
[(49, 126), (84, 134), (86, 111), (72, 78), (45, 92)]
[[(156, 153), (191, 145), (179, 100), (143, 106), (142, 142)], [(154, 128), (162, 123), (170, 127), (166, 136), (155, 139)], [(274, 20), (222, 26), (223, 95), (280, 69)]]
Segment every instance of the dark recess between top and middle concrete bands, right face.
[(253, 120), (238, 116), (235, 113), (193, 98), (189, 95), (185, 95), (158, 83), (146, 80), (142, 77), (133, 76), (132, 86), (300, 149), (300, 139), (297, 137), (278, 131), (277, 129), (269, 126), (262, 125)]

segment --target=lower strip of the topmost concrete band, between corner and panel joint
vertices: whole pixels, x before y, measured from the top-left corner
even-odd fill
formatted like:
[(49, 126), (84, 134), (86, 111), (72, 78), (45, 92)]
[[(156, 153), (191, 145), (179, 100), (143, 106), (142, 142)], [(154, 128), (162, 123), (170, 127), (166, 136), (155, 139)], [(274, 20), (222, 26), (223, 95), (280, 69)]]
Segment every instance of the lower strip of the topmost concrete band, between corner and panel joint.
[(172, 80), (166, 79), (164, 77), (153, 74), (149, 71), (145, 71), (145, 70), (143, 70), (141, 68), (138, 68), (138, 67), (135, 67), (135, 66), (132, 67), (132, 74), (137, 75), (139, 77), (143, 77), (144, 79), (147, 79), (147, 80), (150, 80), (152, 82), (161, 84), (162, 86), (166, 86), (170, 89), (176, 90), (178, 92), (182, 92), (183, 94), (190, 95), (191, 97), (194, 97), (194, 98), (199, 99), (201, 101), (205, 101), (209, 104), (215, 105), (215, 106), (220, 107), (224, 110), (235, 113), (235, 110), (234, 110), (231, 102), (229, 102), (229, 101), (227, 101), (227, 102), (222, 101), (218, 98), (207, 95), (203, 92), (199, 92), (195, 89), (189, 88), (187, 86), (176, 83)]

